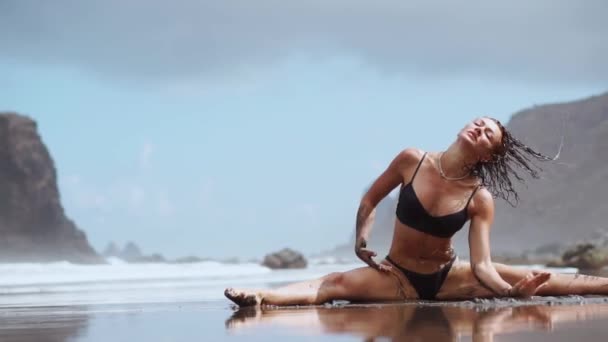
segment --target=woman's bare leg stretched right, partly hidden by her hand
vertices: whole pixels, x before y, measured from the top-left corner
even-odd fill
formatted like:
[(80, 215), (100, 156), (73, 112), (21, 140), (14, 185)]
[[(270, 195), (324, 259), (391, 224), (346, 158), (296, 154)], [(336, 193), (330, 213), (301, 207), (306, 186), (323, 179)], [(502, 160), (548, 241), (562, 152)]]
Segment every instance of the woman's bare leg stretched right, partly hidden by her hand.
[[(513, 266), (494, 263), (498, 274), (509, 284), (514, 285), (532, 269), (516, 268)], [(538, 270), (536, 270), (538, 271)], [(552, 273), (547, 285), (537, 293), (540, 296), (608, 295), (608, 278), (587, 276), (581, 274)], [(495, 297), (496, 295), (485, 288), (473, 275), (467, 262), (459, 262), (452, 267), (450, 273), (439, 291), (439, 299), (471, 299)]]

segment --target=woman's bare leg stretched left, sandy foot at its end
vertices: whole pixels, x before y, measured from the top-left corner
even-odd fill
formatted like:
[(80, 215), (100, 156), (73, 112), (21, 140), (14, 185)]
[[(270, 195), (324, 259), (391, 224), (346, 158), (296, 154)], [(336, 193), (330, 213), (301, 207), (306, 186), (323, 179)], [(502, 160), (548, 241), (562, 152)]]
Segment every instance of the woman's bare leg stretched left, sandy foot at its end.
[(276, 289), (228, 288), (224, 294), (239, 306), (252, 306), (315, 305), (334, 299), (359, 302), (395, 301), (403, 299), (402, 292), (399, 281), (393, 274), (362, 267)]

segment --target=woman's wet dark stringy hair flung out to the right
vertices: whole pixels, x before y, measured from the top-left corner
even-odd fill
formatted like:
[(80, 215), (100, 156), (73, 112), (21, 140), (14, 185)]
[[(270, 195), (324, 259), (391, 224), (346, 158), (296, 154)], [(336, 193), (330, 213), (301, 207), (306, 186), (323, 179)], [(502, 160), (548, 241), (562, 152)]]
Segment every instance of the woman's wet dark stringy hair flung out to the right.
[[(521, 172), (528, 173), (533, 178), (539, 178), (542, 171), (535, 161), (552, 161), (557, 158), (545, 156), (534, 151), (523, 142), (515, 138), (500, 123), (493, 120), (502, 132), (502, 141), (492, 154), (490, 160), (479, 161), (471, 170), (471, 173), (481, 180), (481, 184), (492, 193), (494, 197), (502, 198), (512, 206), (519, 201), (519, 196), (514, 188), (514, 180), (524, 182)], [(561, 149), (561, 147), (560, 147)], [(558, 153), (559, 155), (559, 153)]]

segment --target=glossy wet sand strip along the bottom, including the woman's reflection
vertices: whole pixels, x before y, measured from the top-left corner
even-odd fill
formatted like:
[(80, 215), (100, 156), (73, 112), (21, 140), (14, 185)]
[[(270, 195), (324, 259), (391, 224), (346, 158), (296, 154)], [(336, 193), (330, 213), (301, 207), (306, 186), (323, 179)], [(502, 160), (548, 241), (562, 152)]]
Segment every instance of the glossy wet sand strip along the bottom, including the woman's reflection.
[(0, 341), (605, 341), (608, 297), (237, 309), (227, 301), (5, 308)]

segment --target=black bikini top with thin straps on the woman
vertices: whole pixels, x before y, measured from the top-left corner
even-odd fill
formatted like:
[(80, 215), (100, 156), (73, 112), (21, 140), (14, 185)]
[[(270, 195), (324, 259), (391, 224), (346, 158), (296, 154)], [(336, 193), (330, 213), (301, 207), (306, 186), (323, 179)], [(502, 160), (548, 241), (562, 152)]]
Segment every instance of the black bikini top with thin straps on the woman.
[(417, 231), (436, 237), (450, 238), (456, 234), (457, 231), (462, 229), (462, 226), (468, 221), (469, 215), (467, 209), (479, 187), (473, 190), (471, 197), (469, 197), (467, 204), (462, 210), (443, 216), (431, 216), (426, 209), (424, 209), (422, 203), (420, 203), (420, 200), (414, 191), (414, 187), (412, 186), (424, 157), (426, 157), (426, 153), (420, 159), (416, 171), (414, 171), (414, 175), (412, 176), (412, 180), (410, 180), (407, 185), (401, 187), (399, 202), (397, 203), (397, 218), (401, 223), (412, 227)]

